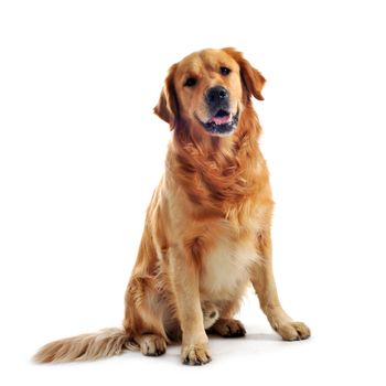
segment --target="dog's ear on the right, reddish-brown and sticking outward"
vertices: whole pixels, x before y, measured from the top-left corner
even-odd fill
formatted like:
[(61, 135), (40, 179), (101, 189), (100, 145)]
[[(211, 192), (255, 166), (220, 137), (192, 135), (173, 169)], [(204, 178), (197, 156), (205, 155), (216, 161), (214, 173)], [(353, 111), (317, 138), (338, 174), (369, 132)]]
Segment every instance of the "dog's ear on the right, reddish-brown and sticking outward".
[(243, 85), (248, 93), (248, 98), (253, 95), (256, 99), (264, 100), (261, 89), (266, 83), (265, 77), (254, 68), (250, 63), (244, 58), (243, 54), (235, 49), (223, 49), (229, 56), (232, 56), (240, 67), (240, 76)]

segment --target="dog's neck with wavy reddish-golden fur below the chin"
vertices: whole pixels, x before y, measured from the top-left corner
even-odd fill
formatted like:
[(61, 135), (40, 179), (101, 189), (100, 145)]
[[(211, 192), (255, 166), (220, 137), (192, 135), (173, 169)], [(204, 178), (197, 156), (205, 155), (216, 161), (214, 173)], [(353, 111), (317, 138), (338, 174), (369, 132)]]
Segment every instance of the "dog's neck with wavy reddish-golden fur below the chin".
[(168, 169), (193, 204), (234, 217), (258, 189), (259, 135), (260, 125), (249, 104), (229, 137), (194, 136), (182, 124), (174, 131)]

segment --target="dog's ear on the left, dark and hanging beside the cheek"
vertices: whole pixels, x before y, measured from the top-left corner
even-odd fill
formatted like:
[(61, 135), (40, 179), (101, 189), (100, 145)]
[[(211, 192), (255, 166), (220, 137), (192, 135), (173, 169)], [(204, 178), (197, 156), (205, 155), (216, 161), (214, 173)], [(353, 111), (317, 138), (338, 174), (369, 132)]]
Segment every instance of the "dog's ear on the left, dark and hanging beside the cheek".
[(174, 74), (176, 66), (178, 64), (173, 64), (169, 68), (169, 73), (161, 92), (160, 100), (154, 107), (154, 112), (170, 125), (171, 130), (174, 128), (175, 121), (179, 118), (179, 101), (176, 99), (174, 87)]

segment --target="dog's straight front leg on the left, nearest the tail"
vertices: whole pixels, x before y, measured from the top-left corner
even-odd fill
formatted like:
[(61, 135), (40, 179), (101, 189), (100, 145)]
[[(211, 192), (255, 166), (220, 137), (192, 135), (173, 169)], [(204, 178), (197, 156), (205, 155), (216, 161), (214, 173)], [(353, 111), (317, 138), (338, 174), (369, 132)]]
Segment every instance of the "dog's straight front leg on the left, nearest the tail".
[(170, 276), (182, 330), (181, 360), (189, 365), (211, 361), (200, 301), (200, 267), (189, 253), (170, 248)]

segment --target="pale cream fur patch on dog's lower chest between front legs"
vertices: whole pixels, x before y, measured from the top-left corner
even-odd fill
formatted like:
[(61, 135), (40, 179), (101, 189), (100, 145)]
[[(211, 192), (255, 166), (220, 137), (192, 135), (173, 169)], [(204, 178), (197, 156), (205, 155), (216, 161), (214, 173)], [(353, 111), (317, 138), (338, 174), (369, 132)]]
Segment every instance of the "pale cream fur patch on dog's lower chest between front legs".
[(258, 261), (254, 238), (235, 240), (218, 237), (203, 256), (201, 291), (211, 300), (230, 300), (239, 296), (249, 280), (253, 264)]

